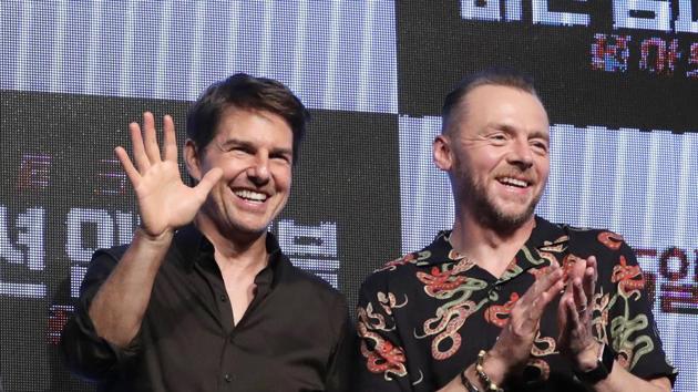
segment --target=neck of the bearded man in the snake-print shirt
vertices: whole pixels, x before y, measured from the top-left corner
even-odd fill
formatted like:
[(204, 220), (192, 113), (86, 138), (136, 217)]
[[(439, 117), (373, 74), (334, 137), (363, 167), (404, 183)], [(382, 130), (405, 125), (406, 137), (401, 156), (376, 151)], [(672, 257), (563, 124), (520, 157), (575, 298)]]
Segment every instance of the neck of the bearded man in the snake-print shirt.
[(461, 210), (456, 212), (450, 241), (454, 250), (499, 278), (528, 240), (534, 227), (535, 218), (531, 216), (521, 226), (502, 231), (484, 226), (473, 213)]

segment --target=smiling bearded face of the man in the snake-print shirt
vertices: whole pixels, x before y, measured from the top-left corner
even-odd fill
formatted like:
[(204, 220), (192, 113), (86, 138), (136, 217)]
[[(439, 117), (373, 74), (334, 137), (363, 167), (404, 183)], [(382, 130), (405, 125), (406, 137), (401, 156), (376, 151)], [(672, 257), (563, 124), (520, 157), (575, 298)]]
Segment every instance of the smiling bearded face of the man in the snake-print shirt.
[(482, 85), (454, 110), (434, 141), (449, 172), (456, 212), (513, 230), (533, 217), (550, 172), (548, 120), (541, 101), (519, 89)]

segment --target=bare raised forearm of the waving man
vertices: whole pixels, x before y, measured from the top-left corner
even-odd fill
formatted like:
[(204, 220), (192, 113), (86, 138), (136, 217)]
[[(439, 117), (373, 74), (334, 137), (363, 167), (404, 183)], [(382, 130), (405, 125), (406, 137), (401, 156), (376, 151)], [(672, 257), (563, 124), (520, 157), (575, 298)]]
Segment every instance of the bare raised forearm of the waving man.
[(90, 305), (89, 314), (97, 336), (122, 348), (135, 338), (172, 237), (172, 233), (166, 233), (150, 238), (136, 230), (131, 246)]

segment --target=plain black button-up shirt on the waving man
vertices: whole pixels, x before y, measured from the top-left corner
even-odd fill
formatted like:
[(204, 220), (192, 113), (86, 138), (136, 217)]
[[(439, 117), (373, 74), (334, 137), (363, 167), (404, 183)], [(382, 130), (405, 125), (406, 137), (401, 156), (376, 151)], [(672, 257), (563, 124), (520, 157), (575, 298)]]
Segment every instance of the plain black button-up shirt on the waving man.
[(97, 251), (63, 330), (69, 367), (101, 391), (349, 391), (356, 336), (343, 297), (267, 238), (269, 265), (234, 326), (213, 246), (194, 226), (177, 231), (126, 349), (99, 338), (88, 314), (125, 247)]

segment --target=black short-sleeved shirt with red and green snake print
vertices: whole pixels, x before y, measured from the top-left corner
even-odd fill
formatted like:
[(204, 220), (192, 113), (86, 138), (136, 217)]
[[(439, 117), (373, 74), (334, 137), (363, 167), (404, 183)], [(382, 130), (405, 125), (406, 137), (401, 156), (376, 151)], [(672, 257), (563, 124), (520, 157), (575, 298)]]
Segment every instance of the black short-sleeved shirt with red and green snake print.
[[(442, 388), (474, 363), (480, 350), (494, 345), (511, 309), (551, 260), (567, 270), (591, 255), (598, 265), (589, 305), (596, 339), (613, 347), (620, 365), (638, 376), (676, 376), (656, 332), (645, 279), (620, 236), (536, 217), (531, 237), (496, 278), (454, 251), (449, 235), (440, 234), (365, 281), (357, 328), (363, 355), (360, 391)], [(526, 368), (509, 390), (585, 390), (556, 347), (558, 299), (547, 306)]]

